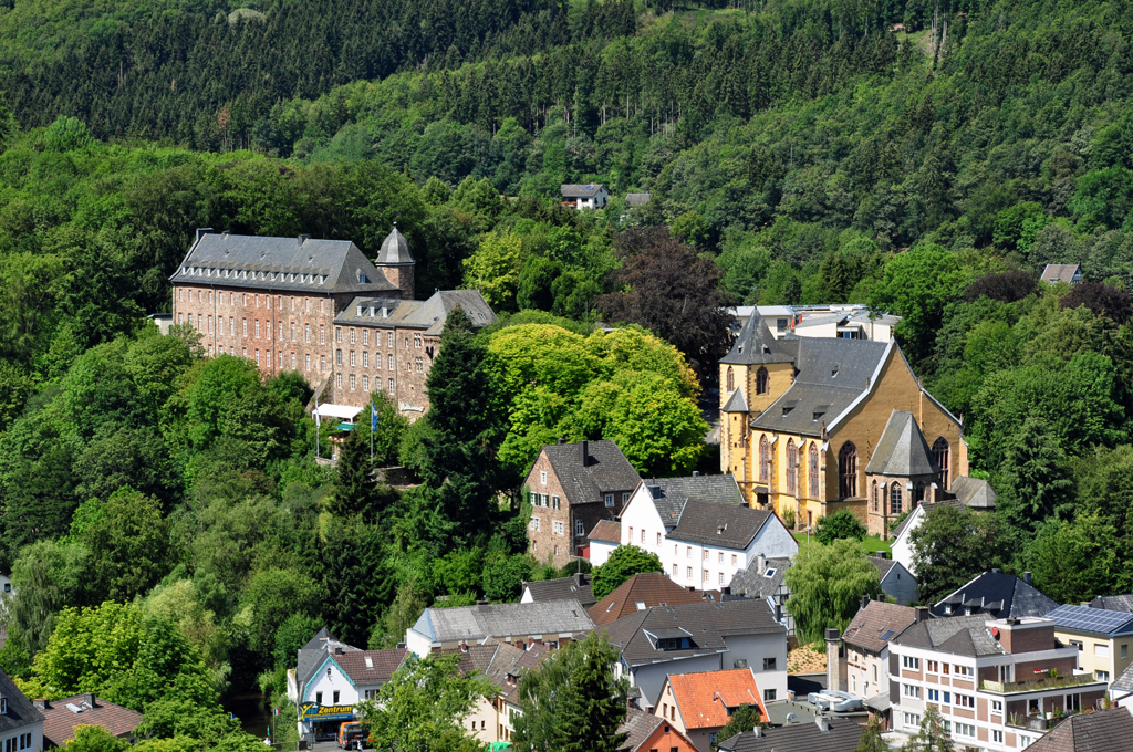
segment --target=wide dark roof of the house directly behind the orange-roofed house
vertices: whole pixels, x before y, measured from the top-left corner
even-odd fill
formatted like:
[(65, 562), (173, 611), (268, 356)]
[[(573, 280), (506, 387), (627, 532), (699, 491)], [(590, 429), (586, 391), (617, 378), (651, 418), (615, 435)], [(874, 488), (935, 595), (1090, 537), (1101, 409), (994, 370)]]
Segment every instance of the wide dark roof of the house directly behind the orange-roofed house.
[[(775, 614), (763, 599), (657, 606), (599, 629), (606, 632), (610, 643), (630, 666), (726, 652), (725, 636), (786, 634), (786, 627), (775, 621)], [(682, 635), (688, 634), (693, 647), (684, 650), (657, 649), (656, 640), (662, 634), (675, 635), (676, 630)]]

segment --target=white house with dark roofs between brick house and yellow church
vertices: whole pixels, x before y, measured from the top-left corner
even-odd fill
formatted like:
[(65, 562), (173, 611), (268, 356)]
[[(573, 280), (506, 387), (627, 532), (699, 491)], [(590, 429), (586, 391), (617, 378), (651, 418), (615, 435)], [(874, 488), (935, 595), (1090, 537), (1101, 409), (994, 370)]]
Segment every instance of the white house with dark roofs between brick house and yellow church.
[(756, 556), (790, 558), (799, 544), (769, 510), (752, 510), (732, 476), (642, 481), (622, 510), (623, 545), (657, 554), (673, 582), (726, 588)]

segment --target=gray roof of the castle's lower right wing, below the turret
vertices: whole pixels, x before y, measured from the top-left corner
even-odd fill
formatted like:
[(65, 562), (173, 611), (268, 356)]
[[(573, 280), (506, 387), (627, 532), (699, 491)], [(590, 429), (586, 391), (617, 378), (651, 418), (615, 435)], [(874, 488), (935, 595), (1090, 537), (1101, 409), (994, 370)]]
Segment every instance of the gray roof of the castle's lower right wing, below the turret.
[(428, 300), (399, 300), (358, 296), (334, 317), (342, 326), (374, 326), (377, 328), (418, 328), (425, 334), (441, 334), (449, 313), (460, 306), (475, 327), (495, 321), (495, 313), (479, 290), (440, 290)]

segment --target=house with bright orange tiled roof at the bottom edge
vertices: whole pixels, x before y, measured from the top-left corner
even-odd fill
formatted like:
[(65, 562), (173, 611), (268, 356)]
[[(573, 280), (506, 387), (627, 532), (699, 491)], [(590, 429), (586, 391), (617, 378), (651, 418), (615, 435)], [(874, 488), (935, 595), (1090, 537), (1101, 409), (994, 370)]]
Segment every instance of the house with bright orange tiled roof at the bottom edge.
[(713, 752), (719, 730), (742, 706), (752, 706), (767, 721), (756, 675), (750, 668), (697, 674), (670, 674), (654, 711), (683, 733), (698, 752)]

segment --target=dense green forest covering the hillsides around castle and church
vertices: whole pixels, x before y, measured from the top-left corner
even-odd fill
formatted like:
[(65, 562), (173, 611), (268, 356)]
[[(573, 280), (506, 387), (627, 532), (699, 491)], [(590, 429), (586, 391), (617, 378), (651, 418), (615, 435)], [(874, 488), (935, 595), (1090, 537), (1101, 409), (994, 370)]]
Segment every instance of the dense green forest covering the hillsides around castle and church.
[[(519, 504), (542, 443), (710, 468), (733, 304), (903, 317), (1000, 501), (942, 521), (926, 593), (993, 565), (1133, 589), (1131, 42), (1121, 1), (0, 3), (0, 665), (240, 749), (220, 699), (282, 704), (318, 626), (390, 646), (555, 574)], [(610, 205), (564, 208), (577, 181)], [(145, 318), (194, 228), (373, 254), (394, 221), (423, 294), (501, 314), (450, 322), (425, 419), (375, 405), (404, 492), (366, 482), (365, 433), (315, 463), (303, 379)]]

